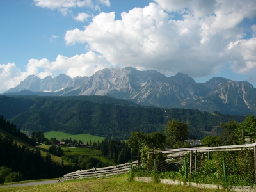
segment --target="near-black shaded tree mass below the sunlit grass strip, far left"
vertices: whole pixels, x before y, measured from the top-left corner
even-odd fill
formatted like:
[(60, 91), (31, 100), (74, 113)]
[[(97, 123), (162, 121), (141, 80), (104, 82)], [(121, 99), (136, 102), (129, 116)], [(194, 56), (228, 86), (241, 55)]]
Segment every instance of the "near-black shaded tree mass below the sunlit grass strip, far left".
[(51, 161), (48, 154), (45, 159), (38, 149), (33, 150), (26, 145), (13, 143), (13, 138), (0, 135), (0, 165), (20, 173), (22, 180), (47, 179), (61, 177), (72, 169)]

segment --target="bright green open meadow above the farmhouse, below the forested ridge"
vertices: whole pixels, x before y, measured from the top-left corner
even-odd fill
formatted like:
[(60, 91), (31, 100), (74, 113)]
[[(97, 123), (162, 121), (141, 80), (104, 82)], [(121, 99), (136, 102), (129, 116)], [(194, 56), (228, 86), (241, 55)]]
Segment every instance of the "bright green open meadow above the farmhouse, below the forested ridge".
[(47, 139), (51, 139), (51, 138), (56, 138), (58, 140), (61, 139), (66, 139), (66, 138), (72, 138), (72, 140), (81, 140), (84, 141), (84, 143), (86, 142), (91, 142), (93, 143), (93, 141), (95, 140), (97, 141), (102, 141), (104, 140), (104, 137), (98, 137), (98, 136), (93, 136), (90, 134), (67, 134), (65, 132), (60, 132), (60, 131), (49, 131), (49, 132), (45, 132), (44, 133), (45, 138)]

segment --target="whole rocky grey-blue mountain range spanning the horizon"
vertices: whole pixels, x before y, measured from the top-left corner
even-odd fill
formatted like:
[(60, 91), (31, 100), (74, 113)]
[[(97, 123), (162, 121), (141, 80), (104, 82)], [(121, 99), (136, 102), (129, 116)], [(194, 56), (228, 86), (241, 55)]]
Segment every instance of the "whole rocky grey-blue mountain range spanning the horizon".
[(196, 83), (186, 74), (166, 77), (156, 70), (139, 71), (132, 67), (106, 68), (90, 77), (70, 78), (61, 74), (40, 79), (32, 75), (2, 95), (105, 95), (144, 106), (256, 114), (256, 89), (248, 81), (214, 77)]

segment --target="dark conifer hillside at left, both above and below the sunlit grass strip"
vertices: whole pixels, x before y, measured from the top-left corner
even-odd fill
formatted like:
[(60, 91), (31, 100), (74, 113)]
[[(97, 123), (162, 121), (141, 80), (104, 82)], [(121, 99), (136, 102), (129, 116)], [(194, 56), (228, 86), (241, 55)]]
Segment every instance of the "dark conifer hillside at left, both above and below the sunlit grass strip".
[[(33, 141), (16, 130), (15, 125), (5, 120), (3, 116), (0, 117), (0, 131), (2, 130), (10, 133), (5, 136), (0, 134), (0, 170), (12, 172), (13, 178), (9, 178), (8, 182), (60, 177), (72, 171), (71, 166), (61, 166), (52, 162), (50, 154), (44, 159), (39, 150), (28, 147), (28, 143), (33, 144)], [(13, 142), (13, 136), (23, 140), (24, 145)], [(1, 174), (1, 182), (4, 182), (3, 174)]]

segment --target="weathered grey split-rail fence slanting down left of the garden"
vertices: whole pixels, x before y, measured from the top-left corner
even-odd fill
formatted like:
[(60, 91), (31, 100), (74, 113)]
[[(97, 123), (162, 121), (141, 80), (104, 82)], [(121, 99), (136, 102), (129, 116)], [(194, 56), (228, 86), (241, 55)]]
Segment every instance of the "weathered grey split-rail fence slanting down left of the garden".
[(108, 166), (103, 168), (92, 168), (90, 170), (78, 170), (76, 172), (68, 173), (63, 176), (59, 182), (72, 179), (83, 179), (92, 177), (109, 177), (112, 175), (119, 175), (122, 173), (127, 173), (131, 169), (131, 166), (136, 166), (138, 161), (133, 161), (131, 163), (119, 164), (116, 166)]

